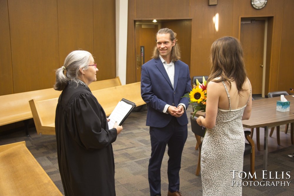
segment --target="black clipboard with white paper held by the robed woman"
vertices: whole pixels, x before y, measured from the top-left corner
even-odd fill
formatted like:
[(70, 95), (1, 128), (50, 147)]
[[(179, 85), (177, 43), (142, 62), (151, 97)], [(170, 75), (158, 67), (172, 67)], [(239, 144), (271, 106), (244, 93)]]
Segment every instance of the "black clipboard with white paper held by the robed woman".
[[(124, 103), (121, 103), (121, 102), (124, 102)], [(125, 110), (124, 107), (126, 107), (127, 109)], [(123, 122), (128, 118), (128, 116), (134, 110), (135, 107), (136, 107), (135, 103), (122, 98), (120, 102), (118, 102), (116, 107), (114, 108), (113, 112), (108, 117), (108, 119), (110, 119), (110, 121), (108, 122), (108, 128), (111, 129), (115, 121), (118, 122), (118, 125), (122, 125)]]

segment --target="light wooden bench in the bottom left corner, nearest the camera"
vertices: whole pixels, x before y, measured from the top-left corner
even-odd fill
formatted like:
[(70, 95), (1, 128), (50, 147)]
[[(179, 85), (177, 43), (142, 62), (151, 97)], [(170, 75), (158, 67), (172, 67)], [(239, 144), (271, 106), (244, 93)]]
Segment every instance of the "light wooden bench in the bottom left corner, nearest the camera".
[(0, 146), (0, 173), (0, 195), (62, 196), (25, 141)]

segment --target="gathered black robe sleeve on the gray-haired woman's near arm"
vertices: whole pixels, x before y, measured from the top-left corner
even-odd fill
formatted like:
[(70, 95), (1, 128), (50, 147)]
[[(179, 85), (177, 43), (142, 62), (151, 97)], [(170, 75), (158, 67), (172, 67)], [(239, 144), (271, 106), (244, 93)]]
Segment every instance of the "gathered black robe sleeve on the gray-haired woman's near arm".
[(72, 100), (67, 116), (71, 137), (83, 148), (104, 148), (116, 140), (116, 129), (106, 129), (105, 113), (91, 93)]

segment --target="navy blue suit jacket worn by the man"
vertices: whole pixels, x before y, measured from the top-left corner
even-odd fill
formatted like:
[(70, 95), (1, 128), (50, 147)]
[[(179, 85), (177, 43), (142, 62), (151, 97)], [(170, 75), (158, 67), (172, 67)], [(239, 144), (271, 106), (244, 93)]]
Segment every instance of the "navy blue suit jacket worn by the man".
[[(168, 104), (178, 107), (179, 103), (183, 103), (188, 108), (188, 98), (182, 97), (190, 91), (191, 78), (186, 63), (175, 62), (174, 87), (160, 58), (145, 63), (141, 72), (141, 96), (148, 106), (146, 125), (165, 127), (173, 116), (162, 112), (164, 106)], [(188, 124), (186, 111), (177, 120), (180, 125)]]

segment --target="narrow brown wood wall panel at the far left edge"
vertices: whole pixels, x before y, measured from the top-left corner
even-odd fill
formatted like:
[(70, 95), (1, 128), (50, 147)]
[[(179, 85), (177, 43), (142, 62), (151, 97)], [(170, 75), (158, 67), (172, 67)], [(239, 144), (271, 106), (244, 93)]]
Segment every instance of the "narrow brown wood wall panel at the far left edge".
[(13, 74), (7, 1), (0, 1), (0, 95), (13, 93)]

